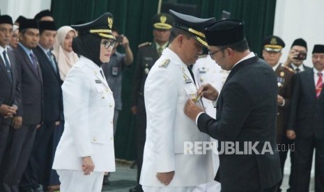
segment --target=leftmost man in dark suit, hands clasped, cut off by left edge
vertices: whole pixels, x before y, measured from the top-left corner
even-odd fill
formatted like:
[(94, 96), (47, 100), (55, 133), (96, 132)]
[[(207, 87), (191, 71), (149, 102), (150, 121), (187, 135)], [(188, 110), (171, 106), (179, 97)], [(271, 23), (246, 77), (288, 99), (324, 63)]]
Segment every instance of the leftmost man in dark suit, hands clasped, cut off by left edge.
[[(20, 104), (20, 89), (17, 82), (15, 57), (8, 51), (10, 38), (13, 35), (13, 19), (8, 15), (0, 16), (0, 165), (8, 143), (10, 125), (17, 115)], [(18, 123), (18, 125), (17, 125)], [(15, 128), (22, 123), (20, 118), (14, 122)]]

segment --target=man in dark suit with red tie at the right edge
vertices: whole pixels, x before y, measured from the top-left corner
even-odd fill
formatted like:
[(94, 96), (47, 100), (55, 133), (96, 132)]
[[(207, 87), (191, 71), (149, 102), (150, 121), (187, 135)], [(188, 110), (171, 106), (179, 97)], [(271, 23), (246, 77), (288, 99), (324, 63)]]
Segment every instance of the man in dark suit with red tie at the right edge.
[(314, 68), (296, 74), (287, 137), (295, 139), (294, 191), (309, 191), (315, 155), (315, 191), (324, 191), (324, 45), (315, 45)]

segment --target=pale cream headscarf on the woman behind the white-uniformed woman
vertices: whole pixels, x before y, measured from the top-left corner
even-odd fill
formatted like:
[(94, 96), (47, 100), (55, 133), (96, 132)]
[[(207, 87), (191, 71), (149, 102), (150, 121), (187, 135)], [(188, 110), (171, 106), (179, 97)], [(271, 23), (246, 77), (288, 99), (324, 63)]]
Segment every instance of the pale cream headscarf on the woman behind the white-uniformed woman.
[(59, 72), (61, 79), (64, 81), (66, 74), (71, 69), (71, 67), (79, 61), (79, 57), (75, 54), (74, 51), (65, 51), (64, 40), (68, 32), (73, 31), (77, 35), (77, 31), (72, 29), (70, 26), (61, 26), (61, 28), (57, 31), (56, 39), (54, 42), (54, 50), (52, 53), (56, 57), (56, 61), (59, 66)]

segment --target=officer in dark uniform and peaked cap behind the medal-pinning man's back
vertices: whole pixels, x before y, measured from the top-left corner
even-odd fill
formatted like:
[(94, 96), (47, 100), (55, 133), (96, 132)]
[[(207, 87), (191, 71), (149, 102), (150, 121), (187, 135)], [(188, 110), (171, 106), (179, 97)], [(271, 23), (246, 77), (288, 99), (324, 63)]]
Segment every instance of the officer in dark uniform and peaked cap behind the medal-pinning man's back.
[[(281, 173), (284, 173), (284, 163), (290, 147), (293, 142), (286, 137), (288, 123), (288, 109), (290, 107), (291, 94), (293, 91), (294, 71), (286, 65), (279, 63), (281, 49), (285, 43), (281, 38), (271, 35), (263, 40), (263, 58), (272, 67), (277, 74), (278, 93), (278, 112), (277, 112), (277, 146), (279, 150)], [(289, 176), (289, 185), (293, 182), (293, 152), (291, 151), (291, 174)], [(282, 180), (281, 180), (282, 182)], [(281, 182), (278, 184), (278, 191), (281, 191)]]

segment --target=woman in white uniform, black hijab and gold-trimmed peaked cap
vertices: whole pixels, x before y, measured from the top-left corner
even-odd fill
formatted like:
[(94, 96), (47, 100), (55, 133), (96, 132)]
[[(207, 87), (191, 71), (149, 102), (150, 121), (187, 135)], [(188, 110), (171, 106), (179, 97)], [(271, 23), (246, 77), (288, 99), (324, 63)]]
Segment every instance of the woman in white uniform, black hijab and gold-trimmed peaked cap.
[(62, 86), (65, 127), (53, 163), (61, 192), (99, 192), (104, 173), (115, 171), (114, 97), (101, 69), (115, 45), (112, 24), (113, 16), (105, 13), (72, 26), (79, 31), (72, 49), (80, 60)]

